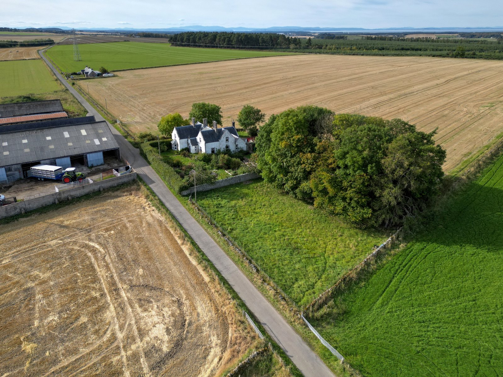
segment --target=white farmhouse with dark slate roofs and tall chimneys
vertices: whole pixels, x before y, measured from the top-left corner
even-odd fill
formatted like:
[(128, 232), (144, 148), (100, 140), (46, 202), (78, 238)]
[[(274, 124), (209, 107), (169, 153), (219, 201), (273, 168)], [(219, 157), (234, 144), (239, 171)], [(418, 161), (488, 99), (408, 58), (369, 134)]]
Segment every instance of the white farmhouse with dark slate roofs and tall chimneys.
[(206, 119), (201, 124), (193, 118), (192, 125), (175, 127), (172, 138), (174, 150), (189, 148), (191, 153), (246, 150), (246, 142), (237, 135), (234, 126), (218, 128), (217, 122), (213, 122), (213, 128), (209, 128)]

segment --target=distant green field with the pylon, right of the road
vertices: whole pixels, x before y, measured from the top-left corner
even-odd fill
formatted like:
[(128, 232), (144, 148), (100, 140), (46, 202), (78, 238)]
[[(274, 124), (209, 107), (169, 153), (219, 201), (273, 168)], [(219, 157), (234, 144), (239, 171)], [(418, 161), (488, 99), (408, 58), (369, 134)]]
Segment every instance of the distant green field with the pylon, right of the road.
[(245, 51), (172, 47), (167, 43), (113, 42), (78, 45), (82, 61), (73, 61), (73, 46), (59, 45), (47, 50), (46, 55), (65, 72), (76, 72), (86, 65), (109, 70), (158, 67), (166, 65), (203, 63), (208, 61), (286, 55), (284, 52)]

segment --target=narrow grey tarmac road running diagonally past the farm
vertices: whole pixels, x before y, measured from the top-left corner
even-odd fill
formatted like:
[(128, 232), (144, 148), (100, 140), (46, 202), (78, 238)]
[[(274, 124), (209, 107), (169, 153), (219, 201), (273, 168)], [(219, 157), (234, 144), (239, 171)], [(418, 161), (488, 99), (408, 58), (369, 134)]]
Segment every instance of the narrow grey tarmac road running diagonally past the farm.
[[(61, 76), (49, 60), (39, 51), (40, 56), (52, 69), (56, 77), (72, 93), (72, 95), (82, 104), (86, 110), (95, 116), (97, 121), (104, 120), (103, 117), (79, 93)], [(108, 123), (107, 123), (108, 124)], [(294, 364), (306, 377), (333, 377), (332, 372), (321, 361), (286, 320), (274, 309), (274, 307), (262, 296), (248, 278), (237, 268), (225, 252), (206, 233), (199, 223), (184, 208), (178, 199), (167, 189), (164, 182), (150, 165), (141, 157), (138, 149), (134, 148), (114, 127), (108, 124), (115, 136), (121, 155), (138, 172), (140, 177), (151, 187), (153, 192), (164, 203), (167, 209), (182, 224), (184, 229), (201, 250), (208, 256), (223, 277), (229, 282), (234, 291), (243, 300), (246, 306), (255, 314), (267, 332), (283, 348)]]

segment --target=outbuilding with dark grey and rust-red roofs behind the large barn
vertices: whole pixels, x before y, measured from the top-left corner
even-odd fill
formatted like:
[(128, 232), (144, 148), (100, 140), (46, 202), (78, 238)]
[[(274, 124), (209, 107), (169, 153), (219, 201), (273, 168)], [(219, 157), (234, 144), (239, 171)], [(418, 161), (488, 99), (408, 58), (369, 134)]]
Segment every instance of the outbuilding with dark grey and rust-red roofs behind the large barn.
[(0, 125), (68, 118), (59, 100), (0, 105)]

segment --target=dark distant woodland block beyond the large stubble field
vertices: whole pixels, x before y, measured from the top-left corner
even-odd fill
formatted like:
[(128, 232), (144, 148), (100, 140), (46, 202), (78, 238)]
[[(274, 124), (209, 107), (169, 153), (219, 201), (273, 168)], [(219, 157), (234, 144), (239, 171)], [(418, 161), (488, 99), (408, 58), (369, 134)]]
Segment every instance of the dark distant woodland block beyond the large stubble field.
[(170, 36), (172, 46), (268, 48), (300, 46), (301, 40), (276, 33), (185, 32)]

